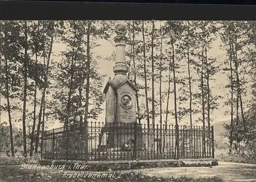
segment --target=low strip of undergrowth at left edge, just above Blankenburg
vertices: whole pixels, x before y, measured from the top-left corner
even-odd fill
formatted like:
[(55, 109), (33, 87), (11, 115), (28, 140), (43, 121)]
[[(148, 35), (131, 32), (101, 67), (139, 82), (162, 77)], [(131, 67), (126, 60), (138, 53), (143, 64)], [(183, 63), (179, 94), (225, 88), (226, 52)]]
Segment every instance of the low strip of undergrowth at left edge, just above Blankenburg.
[(24, 157), (22, 155), (1, 155), (0, 165), (20, 165), (20, 164), (37, 164), (40, 160), (40, 154), (35, 154), (32, 157)]

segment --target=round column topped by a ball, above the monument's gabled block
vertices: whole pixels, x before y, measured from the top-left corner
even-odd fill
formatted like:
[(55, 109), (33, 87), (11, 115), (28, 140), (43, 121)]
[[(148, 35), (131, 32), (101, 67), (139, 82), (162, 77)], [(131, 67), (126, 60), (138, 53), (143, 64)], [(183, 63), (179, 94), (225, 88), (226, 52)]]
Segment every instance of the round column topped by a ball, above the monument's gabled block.
[(116, 74), (126, 75), (128, 67), (125, 63), (125, 43), (127, 38), (125, 37), (126, 29), (123, 25), (117, 25), (115, 32), (117, 36), (114, 38), (116, 42), (116, 65), (113, 67), (113, 71)]

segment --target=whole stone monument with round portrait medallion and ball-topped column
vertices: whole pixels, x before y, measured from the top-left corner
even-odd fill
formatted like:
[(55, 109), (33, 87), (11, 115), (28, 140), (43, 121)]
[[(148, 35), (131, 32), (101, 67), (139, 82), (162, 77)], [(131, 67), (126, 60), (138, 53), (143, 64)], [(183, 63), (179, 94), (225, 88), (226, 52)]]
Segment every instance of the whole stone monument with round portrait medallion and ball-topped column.
[[(117, 34), (114, 38), (116, 43), (116, 64), (113, 68), (115, 76), (113, 80), (109, 77), (103, 90), (106, 95), (106, 116), (105, 125), (101, 129), (101, 135), (108, 133), (106, 143), (110, 148), (120, 147), (129, 139), (134, 139), (135, 124), (137, 124), (136, 94), (138, 88), (126, 75), (128, 67), (125, 63), (125, 43), (127, 40), (125, 27), (118, 25), (115, 32)], [(130, 126), (130, 128), (127, 126)], [(137, 125), (136, 131), (137, 144), (141, 147), (143, 143), (143, 140), (141, 140), (142, 128)], [(102, 143), (105, 142), (102, 141), (100, 136), (99, 148), (102, 148)]]

